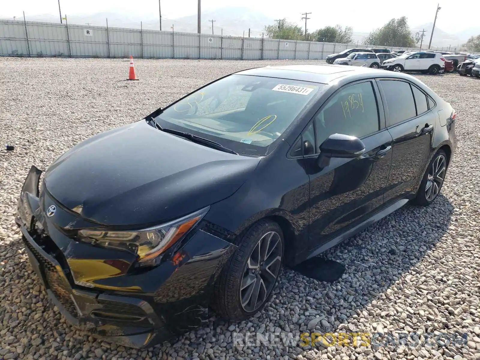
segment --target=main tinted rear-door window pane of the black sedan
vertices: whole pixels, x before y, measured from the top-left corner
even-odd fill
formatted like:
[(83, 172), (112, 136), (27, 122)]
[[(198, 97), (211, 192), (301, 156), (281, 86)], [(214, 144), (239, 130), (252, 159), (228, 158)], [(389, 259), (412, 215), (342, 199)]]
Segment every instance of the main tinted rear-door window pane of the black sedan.
[(387, 126), (395, 125), (417, 116), (410, 84), (404, 81), (381, 80), (388, 107)]

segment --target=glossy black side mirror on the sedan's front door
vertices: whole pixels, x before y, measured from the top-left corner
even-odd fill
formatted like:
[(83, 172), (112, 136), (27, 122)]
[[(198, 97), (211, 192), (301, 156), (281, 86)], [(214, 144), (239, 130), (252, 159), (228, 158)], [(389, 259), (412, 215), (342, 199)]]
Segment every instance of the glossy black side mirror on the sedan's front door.
[(330, 158), (355, 158), (365, 152), (365, 145), (355, 136), (332, 134), (320, 145), (318, 165), (321, 168), (330, 164)]

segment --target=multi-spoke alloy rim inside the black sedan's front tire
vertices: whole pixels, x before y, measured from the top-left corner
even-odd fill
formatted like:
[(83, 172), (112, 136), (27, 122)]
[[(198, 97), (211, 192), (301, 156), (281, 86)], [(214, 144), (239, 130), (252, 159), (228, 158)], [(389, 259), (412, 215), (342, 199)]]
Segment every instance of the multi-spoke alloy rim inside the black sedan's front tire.
[(243, 271), (240, 303), (246, 312), (262, 306), (272, 291), (282, 262), (282, 241), (275, 231), (267, 232), (253, 248)]

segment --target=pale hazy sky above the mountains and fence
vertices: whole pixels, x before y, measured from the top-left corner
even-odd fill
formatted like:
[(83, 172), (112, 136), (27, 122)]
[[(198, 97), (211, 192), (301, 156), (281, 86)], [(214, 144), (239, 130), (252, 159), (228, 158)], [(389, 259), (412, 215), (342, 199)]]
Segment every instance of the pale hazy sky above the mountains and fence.
[[(145, 20), (158, 16), (157, 0), (60, 0), (62, 13), (68, 15), (96, 12), (117, 12), (142, 16)], [(349, 25), (354, 31), (369, 32), (382, 26), (391, 18), (408, 17), (410, 27), (433, 21), (437, 0), (202, 0), (202, 10), (215, 10), (226, 6), (254, 9), (274, 19), (286, 17), (288, 21), (302, 23), (301, 13), (312, 12), (307, 27), (311, 30), (325, 25)], [(442, 10), (437, 19), (438, 27), (456, 32), (477, 26), (478, 13), (466, 11), (455, 1), (440, 3)], [(162, 17), (176, 19), (197, 12), (197, 0), (161, 0)], [(58, 14), (57, 0), (2, 0), (0, 18), (28, 15)]]

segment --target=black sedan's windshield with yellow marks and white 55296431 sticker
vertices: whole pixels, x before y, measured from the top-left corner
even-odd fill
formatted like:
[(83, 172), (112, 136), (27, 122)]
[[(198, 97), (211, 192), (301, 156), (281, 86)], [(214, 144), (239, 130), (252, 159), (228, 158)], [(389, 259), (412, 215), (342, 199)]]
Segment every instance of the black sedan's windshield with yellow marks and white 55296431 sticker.
[(165, 108), (155, 120), (240, 154), (266, 155), (300, 111), (326, 85), (230, 75)]

